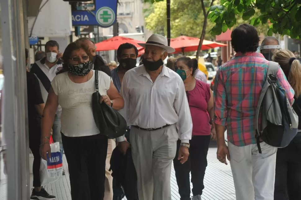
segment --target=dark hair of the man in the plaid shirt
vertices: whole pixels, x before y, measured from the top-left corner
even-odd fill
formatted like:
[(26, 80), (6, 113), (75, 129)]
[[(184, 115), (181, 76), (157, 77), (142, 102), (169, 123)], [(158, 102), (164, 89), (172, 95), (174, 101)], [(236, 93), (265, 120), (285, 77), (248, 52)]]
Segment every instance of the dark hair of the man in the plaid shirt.
[(259, 36), (254, 26), (240, 24), (231, 33), (231, 46), (235, 52), (256, 52), (259, 46)]

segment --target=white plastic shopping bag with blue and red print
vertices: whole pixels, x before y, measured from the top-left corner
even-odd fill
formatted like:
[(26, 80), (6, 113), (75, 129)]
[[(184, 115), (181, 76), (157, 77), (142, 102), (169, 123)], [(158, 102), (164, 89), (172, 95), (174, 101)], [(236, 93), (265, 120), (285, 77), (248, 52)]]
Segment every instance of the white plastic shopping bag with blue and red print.
[(40, 180), (41, 185), (46, 185), (59, 180), (63, 174), (63, 158), (60, 152), (60, 143), (55, 142), (50, 144), (51, 158), (48, 157), (47, 161), (41, 158), (40, 166)]

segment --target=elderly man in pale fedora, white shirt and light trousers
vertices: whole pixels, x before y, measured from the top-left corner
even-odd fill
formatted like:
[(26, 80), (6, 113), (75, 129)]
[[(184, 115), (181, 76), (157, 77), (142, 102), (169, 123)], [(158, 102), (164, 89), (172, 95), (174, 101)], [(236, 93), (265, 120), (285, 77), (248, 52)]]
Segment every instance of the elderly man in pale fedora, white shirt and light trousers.
[[(142, 65), (128, 70), (120, 94), (124, 109), (120, 112), (131, 126), (132, 156), (137, 171), (140, 200), (170, 200), (170, 174), (180, 138), (179, 157), (187, 161), (192, 121), (181, 77), (163, 64), (168, 53), (167, 39), (153, 34), (145, 44)], [(129, 147), (124, 137), (118, 148)]]

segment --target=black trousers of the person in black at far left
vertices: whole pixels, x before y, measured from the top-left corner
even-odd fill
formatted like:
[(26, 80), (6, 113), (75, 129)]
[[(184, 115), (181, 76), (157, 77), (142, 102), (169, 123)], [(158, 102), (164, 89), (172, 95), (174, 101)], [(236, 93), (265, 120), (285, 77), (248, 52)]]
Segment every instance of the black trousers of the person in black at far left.
[(40, 142), (41, 142), (41, 127), (39, 121), (29, 120), (29, 148), (34, 155), (34, 163), (32, 166), (32, 173), (34, 175), (33, 187), (40, 187)]

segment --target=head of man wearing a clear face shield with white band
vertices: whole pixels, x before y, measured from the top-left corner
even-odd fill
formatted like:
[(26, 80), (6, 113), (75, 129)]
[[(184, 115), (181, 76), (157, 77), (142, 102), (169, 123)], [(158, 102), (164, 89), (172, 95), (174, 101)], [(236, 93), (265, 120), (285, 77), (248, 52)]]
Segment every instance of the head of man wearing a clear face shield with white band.
[(279, 41), (275, 37), (269, 36), (261, 42), (260, 53), (262, 53), (265, 59), (272, 60), (274, 51), (279, 49), (281, 49)]

